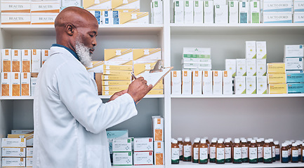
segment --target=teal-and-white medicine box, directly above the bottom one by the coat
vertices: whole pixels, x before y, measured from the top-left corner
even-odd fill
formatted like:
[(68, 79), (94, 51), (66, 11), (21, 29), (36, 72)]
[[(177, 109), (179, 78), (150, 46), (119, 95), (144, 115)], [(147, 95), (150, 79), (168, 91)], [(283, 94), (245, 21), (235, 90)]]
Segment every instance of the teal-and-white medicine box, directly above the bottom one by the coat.
[(113, 152), (132, 151), (132, 141), (133, 141), (133, 138), (113, 139), (113, 141), (112, 141)]

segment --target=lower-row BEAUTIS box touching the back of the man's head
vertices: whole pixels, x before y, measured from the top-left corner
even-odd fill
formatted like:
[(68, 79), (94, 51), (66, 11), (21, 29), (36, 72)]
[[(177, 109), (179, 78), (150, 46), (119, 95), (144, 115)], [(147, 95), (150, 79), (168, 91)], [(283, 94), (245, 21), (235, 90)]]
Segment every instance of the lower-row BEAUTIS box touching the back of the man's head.
[(59, 13), (32, 13), (32, 25), (54, 25), (55, 18)]

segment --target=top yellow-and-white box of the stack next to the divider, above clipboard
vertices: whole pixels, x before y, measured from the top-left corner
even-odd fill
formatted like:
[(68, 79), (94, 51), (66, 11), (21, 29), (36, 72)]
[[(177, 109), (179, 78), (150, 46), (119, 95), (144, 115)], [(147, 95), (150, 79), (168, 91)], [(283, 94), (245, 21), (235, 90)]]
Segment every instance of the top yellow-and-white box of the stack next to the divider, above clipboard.
[(161, 48), (133, 49), (133, 60), (161, 59)]

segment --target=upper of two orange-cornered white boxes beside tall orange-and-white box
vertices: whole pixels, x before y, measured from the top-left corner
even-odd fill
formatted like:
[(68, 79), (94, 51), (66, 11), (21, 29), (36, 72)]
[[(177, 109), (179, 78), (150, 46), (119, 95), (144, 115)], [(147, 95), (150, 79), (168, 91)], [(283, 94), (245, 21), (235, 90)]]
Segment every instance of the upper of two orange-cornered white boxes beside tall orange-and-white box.
[(153, 138), (134, 138), (134, 152), (140, 151), (153, 152)]

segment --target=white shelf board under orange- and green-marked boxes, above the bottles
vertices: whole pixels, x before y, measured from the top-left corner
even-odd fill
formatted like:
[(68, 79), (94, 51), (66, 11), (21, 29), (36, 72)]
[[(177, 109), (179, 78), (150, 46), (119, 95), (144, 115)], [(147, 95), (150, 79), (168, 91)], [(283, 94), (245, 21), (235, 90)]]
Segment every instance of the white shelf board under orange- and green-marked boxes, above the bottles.
[(171, 98), (264, 98), (264, 97), (304, 97), (304, 94), (171, 94)]

